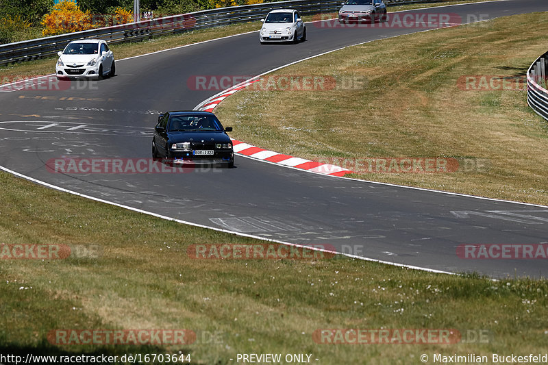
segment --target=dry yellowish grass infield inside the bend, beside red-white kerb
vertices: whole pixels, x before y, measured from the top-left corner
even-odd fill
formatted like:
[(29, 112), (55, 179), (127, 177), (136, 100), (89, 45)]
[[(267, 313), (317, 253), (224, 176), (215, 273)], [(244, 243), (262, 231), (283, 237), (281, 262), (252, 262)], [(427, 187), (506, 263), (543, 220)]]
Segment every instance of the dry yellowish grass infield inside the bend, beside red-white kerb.
[[(356, 171), (352, 177), (548, 205), (548, 160), (539, 153), (547, 123), (523, 90), (547, 31), (547, 14), (534, 13), (369, 42), (265, 76), (314, 70), (335, 88), (250, 86), (215, 113), (237, 140), (334, 162)], [(521, 77), (521, 85), (466, 90), (470, 75)], [(382, 173), (356, 163), (367, 158), (454, 158), (460, 168)]]

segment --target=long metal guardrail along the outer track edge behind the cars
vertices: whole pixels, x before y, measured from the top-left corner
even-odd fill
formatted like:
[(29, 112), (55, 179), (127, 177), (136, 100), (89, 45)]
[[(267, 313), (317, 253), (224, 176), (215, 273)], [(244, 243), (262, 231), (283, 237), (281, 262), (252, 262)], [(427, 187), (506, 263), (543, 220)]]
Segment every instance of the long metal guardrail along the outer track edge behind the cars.
[[(258, 21), (271, 10), (291, 8), (303, 15), (336, 12), (343, 0), (290, 0), (256, 5), (232, 6), (214, 10), (201, 10), (188, 14), (166, 16), (164, 18), (127, 23), (113, 27), (85, 30), (60, 36), (50, 36), (34, 40), (0, 45), (0, 65), (55, 55), (62, 51), (72, 40), (101, 38), (109, 43), (132, 42), (162, 36), (188, 32), (196, 29), (220, 27), (234, 23)], [(385, 0), (386, 5), (403, 5), (408, 3), (432, 3), (440, 0)], [(444, 1), (444, 0), (441, 0)]]

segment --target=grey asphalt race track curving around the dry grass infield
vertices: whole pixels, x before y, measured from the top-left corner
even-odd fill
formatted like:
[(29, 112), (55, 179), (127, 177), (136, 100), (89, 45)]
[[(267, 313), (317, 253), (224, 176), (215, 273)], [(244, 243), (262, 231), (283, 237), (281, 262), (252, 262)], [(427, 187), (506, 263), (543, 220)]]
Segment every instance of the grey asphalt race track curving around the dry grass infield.
[[(416, 10), (466, 19), (548, 10), (510, 0)], [(234, 169), (187, 173), (60, 174), (52, 158), (149, 158), (156, 115), (192, 109), (214, 92), (197, 75), (258, 75), (340, 47), (423, 29), (308, 24), (308, 41), (260, 46), (243, 34), (117, 62), (112, 79), (61, 90), (0, 92), (0, 165), (98, 199), (208, 227), (295, 244), (329, 244), (377, 260), (497, 277), (546, 276), (543, 260), (463, 260), (461, 244), (548, 241), (548, 207), (338, 179), (246, 158)], [(53, 64), (52, 64), (53, 68)], [(63, 90), (64, 89), (64, 90)]]

